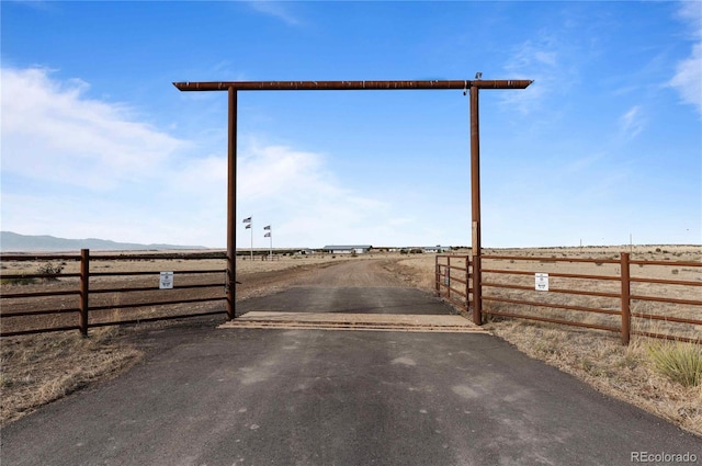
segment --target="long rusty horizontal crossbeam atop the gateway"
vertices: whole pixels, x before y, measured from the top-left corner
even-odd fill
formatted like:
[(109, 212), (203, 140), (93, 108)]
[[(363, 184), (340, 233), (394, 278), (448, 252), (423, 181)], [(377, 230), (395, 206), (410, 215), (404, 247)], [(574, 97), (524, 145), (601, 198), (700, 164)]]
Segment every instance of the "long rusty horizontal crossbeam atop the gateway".
[(427, 90), (427, 89), (525, 89), (530, 80), (452, 80), (452, 81), (205, 81), (173, 82), (180, 91), (351, 91), (351, 90)]

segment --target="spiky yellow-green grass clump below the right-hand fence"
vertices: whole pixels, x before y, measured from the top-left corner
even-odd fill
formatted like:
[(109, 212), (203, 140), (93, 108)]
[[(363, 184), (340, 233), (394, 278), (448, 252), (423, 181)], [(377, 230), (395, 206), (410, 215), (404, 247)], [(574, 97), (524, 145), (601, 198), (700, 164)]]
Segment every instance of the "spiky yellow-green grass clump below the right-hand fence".
[(654, 367), (686, 387), (702, 383), (702, 349), (693, 343), (665, 342), (648, 346)]

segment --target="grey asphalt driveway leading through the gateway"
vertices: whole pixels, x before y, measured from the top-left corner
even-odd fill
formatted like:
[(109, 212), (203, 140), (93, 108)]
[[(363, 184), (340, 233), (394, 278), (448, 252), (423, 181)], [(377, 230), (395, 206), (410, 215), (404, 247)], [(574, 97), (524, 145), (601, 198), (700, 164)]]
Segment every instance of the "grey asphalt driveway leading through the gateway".
[[(293, 288), (241, 306), (254, 308), (451, 312), (399, 287)], [(131, 372), (4, 428), (2, 464), (631, 465), (638, 452), (702, 462), (702, 439), (491, 336), (214, 323), (135, 337), (147, 356)]]

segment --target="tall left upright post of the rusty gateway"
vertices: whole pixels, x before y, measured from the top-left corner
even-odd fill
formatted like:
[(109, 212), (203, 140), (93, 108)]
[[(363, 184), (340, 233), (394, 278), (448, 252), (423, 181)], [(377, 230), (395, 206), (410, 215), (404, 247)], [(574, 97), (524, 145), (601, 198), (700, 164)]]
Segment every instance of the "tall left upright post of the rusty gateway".
[(229, 88), (227, 160), (227, 318), (233, 320), (237, 283), (237, 91), (234, 88)]

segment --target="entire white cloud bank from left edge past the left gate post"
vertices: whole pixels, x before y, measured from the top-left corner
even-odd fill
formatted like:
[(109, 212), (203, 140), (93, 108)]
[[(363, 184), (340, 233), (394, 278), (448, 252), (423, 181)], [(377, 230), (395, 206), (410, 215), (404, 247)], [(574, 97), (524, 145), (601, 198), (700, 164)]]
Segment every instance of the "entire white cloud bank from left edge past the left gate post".
[[(208, 143), (177, 139), (125, 105), (89, 99), (86, 82), (45, 69), (2, 69), (2, 82), (3, 229), (225, 246), (226, 147), (199, 154)], [(242, 146), (238, 214), (253, 215), (257, 228), (273, 224), (279, 246), (434, 242), (422, 240), (422, 228), (407, 231), (419, 213), (344, 187), (325, 155), (260, 140)], [(248, 231), (238, 234), (248, 245)]]

